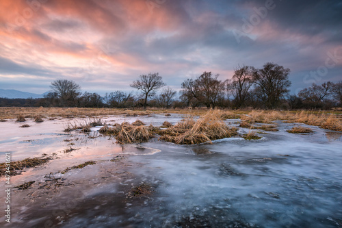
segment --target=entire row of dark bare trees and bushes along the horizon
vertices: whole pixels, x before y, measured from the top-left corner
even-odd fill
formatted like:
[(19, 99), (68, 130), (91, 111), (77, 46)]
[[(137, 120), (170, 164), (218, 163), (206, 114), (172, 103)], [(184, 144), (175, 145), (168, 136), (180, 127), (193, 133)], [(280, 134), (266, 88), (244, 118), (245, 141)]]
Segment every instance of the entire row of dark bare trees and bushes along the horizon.
[(195, 79), (185, 79), (179, 97), (166, 87), (159, 73), (140, 75), (130, 85), (137, 90), (116, 90), (101, 97), (97, 93), (81, 93), (81, 87), (66, 79), (51, 83), (51, 92), (42, 99), (0, 99), (0, 106), (42, 107), (244, 107), (264, 109), (329, 109), (342, 106), (342, 81), (321, 85), (313, 83), (289, 94), (289, 68), (267, 62), (263, 68), (237, 66), (231, 79), (204, 72)]

